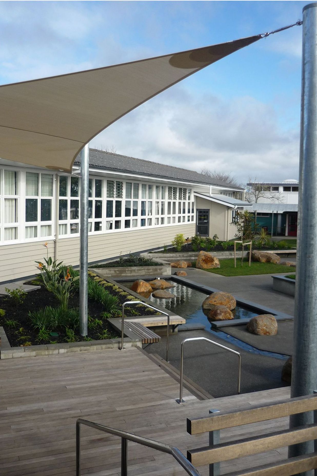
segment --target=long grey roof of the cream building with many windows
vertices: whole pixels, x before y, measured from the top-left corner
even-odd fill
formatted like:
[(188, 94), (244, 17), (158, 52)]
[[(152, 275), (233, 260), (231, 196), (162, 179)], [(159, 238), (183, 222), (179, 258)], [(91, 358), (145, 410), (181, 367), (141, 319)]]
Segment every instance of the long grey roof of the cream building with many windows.
[[(75, 160), (75, 164), (80, 164), (79, 156)], [(219, 185), (242, 190), (241, 187), (234, 187), (232, 184), (222, 182), (221, 180), (211, 179), (207, 175), (199, 174), (194, 170), (180, 169), (171, 165), (158, 164), (150, 160), (135, 159), (134, 157), (103, 152), (97, 149), (89, 149), (89, 166), (117, 172), (137, 173), (159, 178), (175, 178), (176, 180), (186, 182)]]

